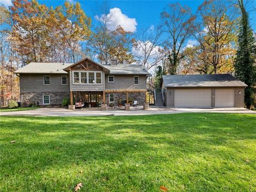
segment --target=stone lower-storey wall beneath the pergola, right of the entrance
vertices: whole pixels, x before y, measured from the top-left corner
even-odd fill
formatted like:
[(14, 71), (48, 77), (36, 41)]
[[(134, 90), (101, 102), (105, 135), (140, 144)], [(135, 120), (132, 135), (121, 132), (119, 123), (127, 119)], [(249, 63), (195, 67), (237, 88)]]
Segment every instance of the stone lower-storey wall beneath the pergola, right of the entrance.
[[(118, 99), (126, 100), (126, 93), (106, 93), (106, 103), (109, 106), (109, 94), (114, 94), (114, 106), (118, 106)], [(128, 98), (133, 98), (134, 101), (138, 101), (139, 106), (143, 106), (145, 103), (145, 92), (128, 93)]]

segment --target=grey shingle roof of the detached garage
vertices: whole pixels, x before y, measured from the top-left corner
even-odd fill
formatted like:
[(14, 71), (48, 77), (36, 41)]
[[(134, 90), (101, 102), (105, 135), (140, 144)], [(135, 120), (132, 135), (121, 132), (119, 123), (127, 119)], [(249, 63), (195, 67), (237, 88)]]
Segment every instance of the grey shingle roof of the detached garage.
[(246, 87), (230, 74), (163, 75), (165, 87)]

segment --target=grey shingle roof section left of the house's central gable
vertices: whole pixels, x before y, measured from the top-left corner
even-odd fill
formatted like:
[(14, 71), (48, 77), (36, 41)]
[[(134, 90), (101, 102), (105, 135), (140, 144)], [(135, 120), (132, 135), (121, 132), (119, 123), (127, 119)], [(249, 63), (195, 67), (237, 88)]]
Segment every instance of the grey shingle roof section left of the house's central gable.
[(31, 62), (25, 67), (15, 71), (17, 74), (34, 73), (34, 74), (67, 74), (64, 68), (72, 65), (72, 63), (44, 63)]

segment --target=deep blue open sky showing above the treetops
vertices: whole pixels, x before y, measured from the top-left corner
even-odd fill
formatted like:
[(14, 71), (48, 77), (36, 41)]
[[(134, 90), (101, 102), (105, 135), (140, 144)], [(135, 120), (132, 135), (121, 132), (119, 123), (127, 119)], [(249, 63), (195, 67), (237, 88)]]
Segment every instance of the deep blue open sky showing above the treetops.
[[(81, 0), (68, 0), (69, 2), (79, 2), (84, 12), (92, 18), (92, 23), (95, 24), (95, 14), (98, 12), (99, 6), (103, 1), (81, 1)], [(0, 0), (1, 3), (10, 5), (11, 0)], [(164, 7), (170, 3), (179, 2), (182, 5), (187, 5), (191, 8), (193, 13), (196, 12), (197, 7), (203, 1), (107, 1), (110, 9), (119, 8), (122, 14), (127, 18), (135, 19), (138, 23), (136, 30), (145, 30), (150, 28), (151, 25), (157, 26), (160, 22), (160, 13)], [(63, 5), (64, 1), (49, 1), (39, 0), (39, 3), (46, 4), (47, 6)], [(256, 1), (251, 1), (251, 5), (256, 7)], [(251, 7), (248, 7), (251, 10)], [(256, 11), (250, 12), (250, 23), (254, 31), (256, 31)]]

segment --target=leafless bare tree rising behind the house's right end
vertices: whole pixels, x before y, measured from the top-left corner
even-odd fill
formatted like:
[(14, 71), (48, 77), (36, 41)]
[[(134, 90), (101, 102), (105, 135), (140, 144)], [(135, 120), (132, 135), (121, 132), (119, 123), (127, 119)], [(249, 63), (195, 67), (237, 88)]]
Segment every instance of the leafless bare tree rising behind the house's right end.
[(142, 33), (134, 34), (133, 54), (134, 57), (147, 69), (151, 69), (162, 62), (164, 57), (161, 26), (154, 30), (143, 30)]

